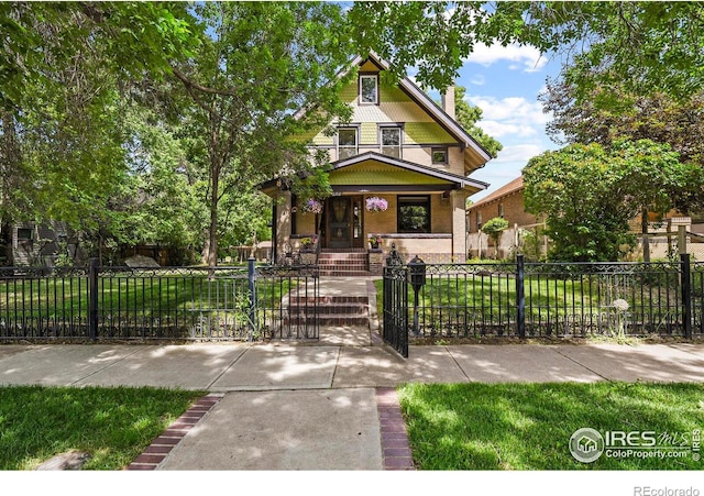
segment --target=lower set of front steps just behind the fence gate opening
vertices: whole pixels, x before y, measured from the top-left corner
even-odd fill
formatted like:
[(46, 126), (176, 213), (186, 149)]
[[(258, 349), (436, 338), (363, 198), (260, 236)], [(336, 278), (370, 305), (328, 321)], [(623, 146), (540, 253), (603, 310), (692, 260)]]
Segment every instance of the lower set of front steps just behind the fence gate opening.
[[(314, 308), (317, 311), (314, 312)], [(370, 324), (369, 297), (366, 296), (319, 296), (295, 297), (288, 305), (292, 323), (304, 323), (315, 319), (322, 326)]]

